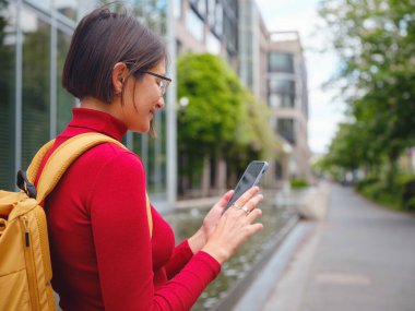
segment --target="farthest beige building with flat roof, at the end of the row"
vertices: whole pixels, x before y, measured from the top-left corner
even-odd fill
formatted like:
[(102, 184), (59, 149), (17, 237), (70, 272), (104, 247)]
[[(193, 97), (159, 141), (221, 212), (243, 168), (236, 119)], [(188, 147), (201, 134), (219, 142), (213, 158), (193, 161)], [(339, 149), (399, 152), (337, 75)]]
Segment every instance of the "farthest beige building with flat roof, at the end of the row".
[(307, 70), (297, 32), (270, 33), (266, 76), (275, 134), (292, 149), (282, 176), (310, 180)]

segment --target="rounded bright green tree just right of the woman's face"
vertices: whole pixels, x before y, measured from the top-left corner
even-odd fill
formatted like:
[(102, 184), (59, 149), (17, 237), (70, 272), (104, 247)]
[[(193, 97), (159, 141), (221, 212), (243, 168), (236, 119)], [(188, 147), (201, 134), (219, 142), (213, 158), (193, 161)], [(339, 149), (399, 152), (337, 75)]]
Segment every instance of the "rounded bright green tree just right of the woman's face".
[(217, 156), (233, 145), (244, 116), (241, 86), (233, 71), (212, 55), (187, 55), (178, 60), (178, 98), (189, 105), (179, 113), (179, 142), (186, 148)]

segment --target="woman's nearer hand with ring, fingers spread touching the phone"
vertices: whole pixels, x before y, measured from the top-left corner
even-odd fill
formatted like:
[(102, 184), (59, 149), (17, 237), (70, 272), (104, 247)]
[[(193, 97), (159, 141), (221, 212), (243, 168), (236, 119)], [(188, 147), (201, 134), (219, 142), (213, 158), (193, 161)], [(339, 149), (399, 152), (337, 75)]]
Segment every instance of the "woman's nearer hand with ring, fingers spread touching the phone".
[(251, 188), (222, 215), (202, 248), (221, 264), (263, 228), (262, 224), (252, 224), (262, 214), (261, 210), (256, 208), (263, 199), (258, 191), (258, 187)]

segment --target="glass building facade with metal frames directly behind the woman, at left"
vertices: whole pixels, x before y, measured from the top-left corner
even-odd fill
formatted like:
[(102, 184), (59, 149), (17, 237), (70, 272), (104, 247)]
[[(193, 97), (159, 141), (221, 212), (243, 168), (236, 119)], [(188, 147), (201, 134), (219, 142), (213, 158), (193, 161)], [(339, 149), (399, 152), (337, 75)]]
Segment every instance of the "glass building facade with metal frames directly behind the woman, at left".
[[(93, 0), (0, 0), (0, 189), (14, 189), (15, 172), (71, 120), (79, 103), (62, 88), (61, 72), (76, 22), (96, 7)], [(167, 0), (130, 1), (127, 9), (166, 35)], [(156, 139), (130, 132), (124, 139), (141, 156), (157, 201), (167, 200), (168, 110), (155, 116)]]

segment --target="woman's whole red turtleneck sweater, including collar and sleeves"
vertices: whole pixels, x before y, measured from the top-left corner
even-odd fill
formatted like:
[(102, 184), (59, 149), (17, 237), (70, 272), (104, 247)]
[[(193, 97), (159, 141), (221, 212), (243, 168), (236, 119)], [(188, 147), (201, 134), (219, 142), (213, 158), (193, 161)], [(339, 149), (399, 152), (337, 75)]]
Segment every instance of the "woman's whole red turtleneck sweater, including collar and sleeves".
[[(86, 132), (121, 140), (127, 128), (105, 112), (74, 108), (52, 151)], [(187, 241), (175, 248), (170, 226), (153, 206), (150, 237), (143, 165), (117, 145), (83, 154), (45, 208), (52, 285), (63, 310), (190, 310), (221, 271), (208, 253), (193, 255)]]

